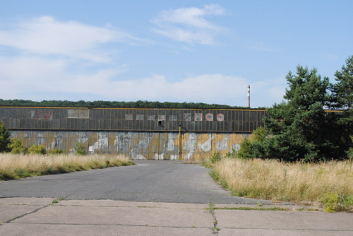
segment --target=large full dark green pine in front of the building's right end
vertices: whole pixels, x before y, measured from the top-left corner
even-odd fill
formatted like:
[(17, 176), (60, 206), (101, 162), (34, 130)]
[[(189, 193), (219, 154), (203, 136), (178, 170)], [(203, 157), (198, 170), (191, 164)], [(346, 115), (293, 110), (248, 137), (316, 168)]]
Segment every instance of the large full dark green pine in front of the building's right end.
[(335, 122), (330, 122), (323, 107), (328, 103), (328, 78), (321, 78), (316, 69), (297, 66), (296, 75), (286, 76), (289, 88), (285, 100), (268, 109), (270, 119), (265, 127), (273, 136), (256, 143), (254, 153), (262, 158), (306, 161), (340, 158), (337, 138), (330, 134)]

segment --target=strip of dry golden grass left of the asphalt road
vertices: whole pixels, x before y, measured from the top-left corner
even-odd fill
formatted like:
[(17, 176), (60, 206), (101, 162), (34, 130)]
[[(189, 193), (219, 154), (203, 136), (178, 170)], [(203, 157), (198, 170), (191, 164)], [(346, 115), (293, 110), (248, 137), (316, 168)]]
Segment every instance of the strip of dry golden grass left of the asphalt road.
[(132, 164), (124, 155), (16, 155), (0, 153), (0, 180)]

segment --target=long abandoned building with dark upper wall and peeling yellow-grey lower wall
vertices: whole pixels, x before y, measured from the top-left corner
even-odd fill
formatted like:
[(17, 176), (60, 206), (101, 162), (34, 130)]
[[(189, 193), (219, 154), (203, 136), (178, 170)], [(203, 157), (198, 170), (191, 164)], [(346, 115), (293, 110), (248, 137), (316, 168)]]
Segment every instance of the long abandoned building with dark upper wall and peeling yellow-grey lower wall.
[(0, 121), (25, 146), (133, 159), (201, 160), (239, 148), (265, 110), (0, 107)]

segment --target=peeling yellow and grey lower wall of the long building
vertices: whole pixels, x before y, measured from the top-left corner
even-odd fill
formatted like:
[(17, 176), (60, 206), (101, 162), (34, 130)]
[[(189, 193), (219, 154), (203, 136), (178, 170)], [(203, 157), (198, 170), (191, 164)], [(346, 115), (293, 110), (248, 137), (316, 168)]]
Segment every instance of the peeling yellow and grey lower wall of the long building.
[[(10, 131), (25, 146), (42, 145), (73, 153), (81, 143), (86, 153), (123, 154), (133, 159), (202, 160), (215, 152), (228, 153), (239, 148), (247, 134), (136, 132), (136, 131)], [(179, 156), (181, 145), (181, 156)]]

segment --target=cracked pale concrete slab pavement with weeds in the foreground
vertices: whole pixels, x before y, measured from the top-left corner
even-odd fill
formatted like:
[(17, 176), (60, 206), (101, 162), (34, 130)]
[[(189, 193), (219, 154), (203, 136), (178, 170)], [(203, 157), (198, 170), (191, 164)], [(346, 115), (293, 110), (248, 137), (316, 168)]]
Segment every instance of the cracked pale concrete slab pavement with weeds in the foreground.
[[(352, 213), (240, 204), (0, 199), (0, 235), (353, 235)], [(56, 202), (56, 203), (53, 203)]]

